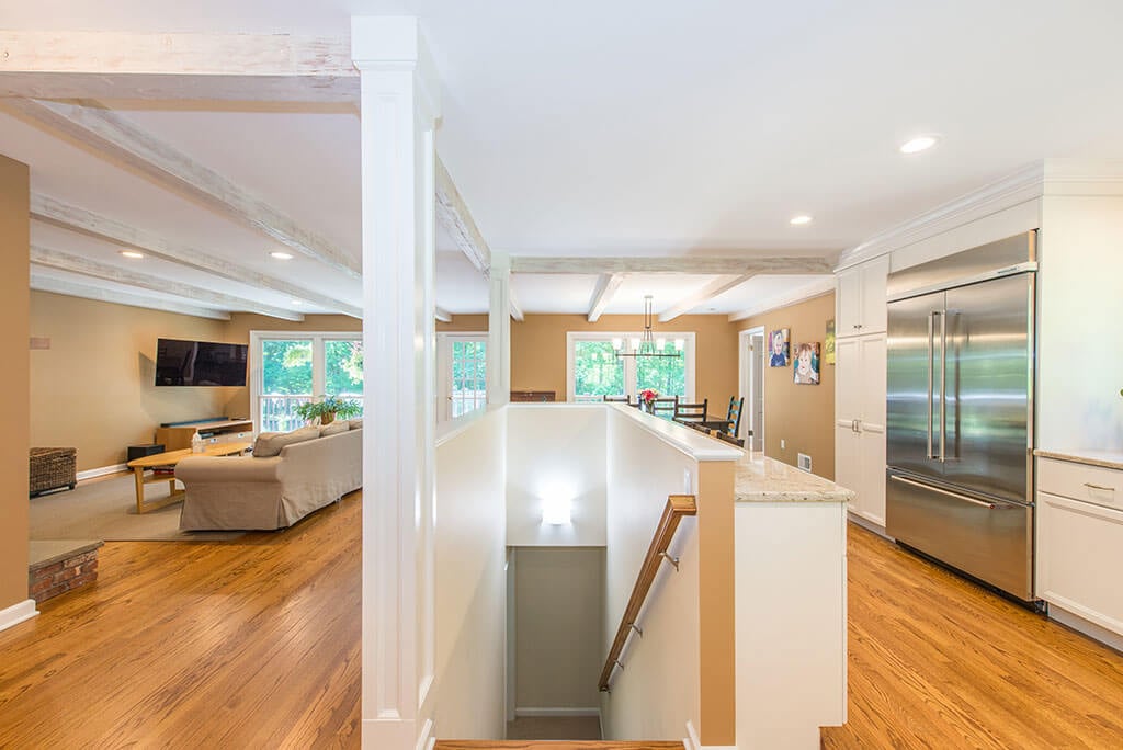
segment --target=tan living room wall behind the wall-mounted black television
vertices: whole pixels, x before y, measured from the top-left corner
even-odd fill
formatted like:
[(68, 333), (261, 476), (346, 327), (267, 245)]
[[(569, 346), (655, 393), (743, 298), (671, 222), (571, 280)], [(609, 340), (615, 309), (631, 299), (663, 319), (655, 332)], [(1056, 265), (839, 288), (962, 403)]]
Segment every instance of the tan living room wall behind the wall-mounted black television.
[(31, 445), (77, 448), (79, 470), (125, 461), (130, 445), (152, 442), (161, 422), (226, 414), (235, 391), (156, 387), (157, 338), (223, 341), (225, 322), (31, 293)]

